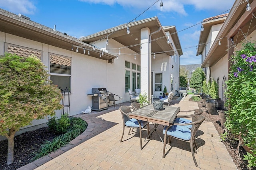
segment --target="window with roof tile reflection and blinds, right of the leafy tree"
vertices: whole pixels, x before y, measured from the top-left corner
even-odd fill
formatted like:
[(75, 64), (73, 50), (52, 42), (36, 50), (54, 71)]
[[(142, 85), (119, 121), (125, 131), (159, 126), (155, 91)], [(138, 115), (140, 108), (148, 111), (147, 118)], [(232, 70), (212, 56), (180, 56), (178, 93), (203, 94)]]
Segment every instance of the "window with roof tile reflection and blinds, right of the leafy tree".
[(50, 54), (50, 74), (52, 83), (58, 88), (70, 91), (71, 82), (71, 59), (59, 55)]

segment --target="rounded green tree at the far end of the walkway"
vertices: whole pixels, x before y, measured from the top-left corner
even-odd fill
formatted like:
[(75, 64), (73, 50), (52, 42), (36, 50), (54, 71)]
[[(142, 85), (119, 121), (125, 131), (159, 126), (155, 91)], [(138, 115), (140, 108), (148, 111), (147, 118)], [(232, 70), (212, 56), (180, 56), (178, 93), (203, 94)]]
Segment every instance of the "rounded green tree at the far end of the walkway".
[(190, 87), (199, 89), (203, 85), (203, 81), (205, 79), (204, 71), (201, 67), (196, 68), (193, 72), (190, 80)]

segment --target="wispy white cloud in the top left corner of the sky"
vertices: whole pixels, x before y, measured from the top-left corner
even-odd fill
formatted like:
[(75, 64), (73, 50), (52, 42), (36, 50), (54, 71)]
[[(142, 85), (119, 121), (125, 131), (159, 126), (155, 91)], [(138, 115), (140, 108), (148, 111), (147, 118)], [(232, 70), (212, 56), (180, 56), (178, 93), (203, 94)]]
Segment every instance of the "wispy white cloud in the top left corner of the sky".
[(34, 14), (36, 6), (32, 0), (0, 0), (0, 7), (13, 13)]

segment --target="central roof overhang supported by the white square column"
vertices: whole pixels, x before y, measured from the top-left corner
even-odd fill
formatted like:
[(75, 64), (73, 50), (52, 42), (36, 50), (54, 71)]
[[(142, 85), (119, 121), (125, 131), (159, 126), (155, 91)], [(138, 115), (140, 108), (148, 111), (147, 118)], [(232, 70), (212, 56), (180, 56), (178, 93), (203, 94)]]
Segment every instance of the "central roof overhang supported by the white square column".
[(174, 49), (171, 44), (167, 43), (168, 37), (166, 36), (166, 33), (157, 17), (134, 21), (129, 23), (128, 26), (130, 29), (130, 34), (126, 33), (127, 24), (123, 24), (83, 37), (80, 40), (85, 43), (92, 44), (93, 42), (100, 39), (105, 39), (108, 36), (108, 39), (112, 38), (132, 51), (135, 51), (135, 53), (140, 54), (141, 29), (148, 27), (152, 33), (157, 31), (160, 27), (161, 30), (154, 33), (151, 37), (151, 51), (153, 53), (166, 53), (166, 55), (174, 55)]

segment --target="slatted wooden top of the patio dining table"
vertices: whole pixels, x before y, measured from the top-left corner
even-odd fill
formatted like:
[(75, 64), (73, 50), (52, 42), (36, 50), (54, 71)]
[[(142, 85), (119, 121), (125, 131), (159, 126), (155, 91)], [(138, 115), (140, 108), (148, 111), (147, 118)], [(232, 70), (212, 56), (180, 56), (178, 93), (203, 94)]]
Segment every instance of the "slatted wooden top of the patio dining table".
[(165, 105), (163, 110), (155, 110), (153, 104), (149, 104), (130, 112), (129, 117), (170, 126), (172, 125), (179, 111), (180, 107)]

